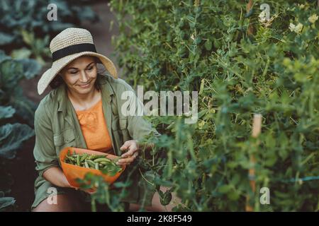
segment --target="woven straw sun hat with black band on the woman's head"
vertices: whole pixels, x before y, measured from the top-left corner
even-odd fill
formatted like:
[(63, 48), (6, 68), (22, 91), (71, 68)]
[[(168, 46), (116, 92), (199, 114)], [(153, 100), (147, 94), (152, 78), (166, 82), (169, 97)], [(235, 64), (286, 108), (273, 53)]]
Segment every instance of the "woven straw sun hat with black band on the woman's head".
[(96, 52), (91, 33), (82, 28), (67, 28), (55, 36), (50, 42), (52, 53), (52, 66), (45, 71), (38, 82), (38, 94), (45, 88), (67, 64), (82, 56), (98, 57), (111, 76), (118, 78), (113, 62), (102, 54)]

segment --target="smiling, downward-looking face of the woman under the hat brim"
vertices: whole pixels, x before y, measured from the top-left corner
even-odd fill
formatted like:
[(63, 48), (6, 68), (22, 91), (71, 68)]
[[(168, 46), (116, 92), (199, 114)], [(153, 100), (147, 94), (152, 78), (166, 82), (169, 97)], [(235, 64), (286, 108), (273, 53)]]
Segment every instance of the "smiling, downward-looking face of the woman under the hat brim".
[(90, 93), (94, 90), (97, 77), (96, 59), (89, 56), (74, 59), (60, 74), (70, 91), (78, 94)]

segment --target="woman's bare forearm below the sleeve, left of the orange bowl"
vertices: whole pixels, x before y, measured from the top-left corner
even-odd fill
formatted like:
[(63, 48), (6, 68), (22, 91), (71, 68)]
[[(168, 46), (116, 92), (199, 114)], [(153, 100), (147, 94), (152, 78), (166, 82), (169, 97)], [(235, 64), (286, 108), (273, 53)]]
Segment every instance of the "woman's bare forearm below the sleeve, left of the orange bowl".
[(49, 169), (45, 170), (45, 172), (43, 173), (43, 177), (55, 186), (64, 188), (72, 187), (67, 181), (67, 177), (65, 177), (65, 174), (62, 172), (62, 169), (60, 169), (60, 167), (50, 167)]

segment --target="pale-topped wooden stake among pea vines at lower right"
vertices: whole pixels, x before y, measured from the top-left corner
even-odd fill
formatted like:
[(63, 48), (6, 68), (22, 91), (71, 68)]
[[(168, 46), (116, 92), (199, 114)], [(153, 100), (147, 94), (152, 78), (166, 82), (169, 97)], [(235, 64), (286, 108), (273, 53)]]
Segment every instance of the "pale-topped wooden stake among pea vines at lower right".
[[(262, 114), (254, 114), (254, 120), (252, 122), (252, 137), (257, 138), (259, 134), (262, 131)], [(250, 155), (250, 163), (252, 165), (255, 165), (256, 159), (254, 155)], [(254, 180), (255, 172), (254, 167), (249, 169), (248, 177), (250, 179), (250, 188), (252, 189), (252, 192), (255, 193), (256, 191), (256, 181)], [(246, 211), (252, 212), (254, 211), (254, 208), (250, 206), (250, 197), (246, 197)]]

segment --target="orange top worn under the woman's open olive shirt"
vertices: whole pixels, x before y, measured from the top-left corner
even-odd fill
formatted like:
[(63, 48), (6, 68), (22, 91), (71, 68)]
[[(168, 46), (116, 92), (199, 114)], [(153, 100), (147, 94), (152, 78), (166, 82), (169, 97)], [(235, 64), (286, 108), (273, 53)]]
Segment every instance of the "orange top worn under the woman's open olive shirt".
[(112, 141), (103, 114), (102, 100), (89, 109), (76, 113), (87, 148), (101, 152), (111, 151)]

